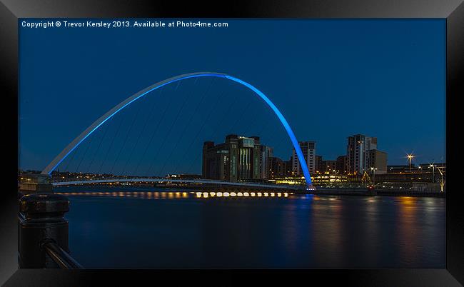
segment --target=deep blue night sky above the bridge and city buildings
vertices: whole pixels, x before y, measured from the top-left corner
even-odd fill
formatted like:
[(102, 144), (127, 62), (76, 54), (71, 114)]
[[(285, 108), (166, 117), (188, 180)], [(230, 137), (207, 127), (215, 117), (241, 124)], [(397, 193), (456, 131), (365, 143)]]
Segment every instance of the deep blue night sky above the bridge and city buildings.
[[(378, 137), (388, 164), (405, 164), (410, 151), (417, 162), (445, 161), (445, 20), (228, 20), (228, 28), (212, 29), (20, 25), (19, 31), (20, 168), (41, 170), (123, 99), (195, 71), (231, 74), (261, 89), (299, 140), (317, 142), (324, 159), (345, 154), (347, 136), (366, 134)], [(285, 131), (256, 96), (223, 79), (208, 90), (210, 84), (187, 80), (153, 93), (102, 126), (60, 168), (116, 166), (117, 173), (138, 163), (140, 170), (200, 172), (201, 157), (195, 158), (202, 141), (228, 133), (257, 134), (276, 156), (290, 156)]]

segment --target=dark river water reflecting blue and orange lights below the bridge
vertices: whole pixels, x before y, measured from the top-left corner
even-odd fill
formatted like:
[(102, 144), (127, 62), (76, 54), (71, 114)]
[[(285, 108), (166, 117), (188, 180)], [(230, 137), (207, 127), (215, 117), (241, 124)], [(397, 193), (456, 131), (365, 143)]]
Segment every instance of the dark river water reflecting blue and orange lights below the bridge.
[(445, 267), (445, 198), (56, 192), (71, 200), (69, 248), (86, 268)]

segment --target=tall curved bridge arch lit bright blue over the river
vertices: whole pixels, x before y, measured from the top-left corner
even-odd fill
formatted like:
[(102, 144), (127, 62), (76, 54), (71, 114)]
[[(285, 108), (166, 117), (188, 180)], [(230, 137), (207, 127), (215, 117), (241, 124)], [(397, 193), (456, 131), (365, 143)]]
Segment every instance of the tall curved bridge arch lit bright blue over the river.
[(260, 96), (261, 99), (263, 99), (266, 102), (266, 104), (268, 104), (268, 106), (271, 107), (271, 109), (276, 114), (278, 119), (281, 121), (283, 127), (286, 129), (287, 134), (291, 139), (291, 142), (293, 144), (293, 148), (295, 148), (296, 155), (298, 156), (298, 161), (300, 161), (301, 169), (303, 170), (303, 175), (306, 178), (306, 184), (308, 185), (308, 188), (312, 188), (311, 175), (309, 174), (308, 165), (306, 164), (305, 158), (303, 156), (303, 152), (301, 151), (300, 145), (298, 144), (298, 141), (296, 139), (295, 134), (293, 134), (293, 131), (292, 131), (290, 125), (288, 125), (288, 122), (283, 117), (283, 115), (281, 114), (281, 111), (279, 111), (277, 109), (276, 105), (274, 105), (273, 102), (270, 99), (268, 99), (268, 97), (265, 94), (263, 94), (263, 92), (256, 89), (251, 84), (248, 84), (246, 81), (242, 81), (241, 79), (238, 79), (238, 78), (236, 78), (234, 76), (229, 76), (227, 74), (216, 73), (216, 72), (198, 72), (198, 73), (191, 73), (191, 74), (183, 74), (183, 75), (180, 75), (180, 76), (174, 76), (172, 78), (169, 78), (169, 79), (166, 79), (164, 81), (160, 81), (160, 82), (158, 82), (156, 84), (153, 84), (151, 86), (148, 86), (148, 88), (143, 89), (142, 91), (139, 91), (138, 93), (134, 94), (133, 96), (128, 97), (128, 99), (126, 99), (126, 100), (122, 101), (120, 104), (114, 106), (113, 109), (109, 110), (108, 112), (106, 112), (106, 114), (104, 114), (99, 119), (94, 121), (94, 124), (91, 124), (91, 126), (89, 126), (89, 128), (87, 128), (78, 137), (76, 137), (76, 139), (74, 139), (74, 141), (71, 141), (71, 143), (68, 146), (66, 146), (66, 148), (64, 148), (64, 150), (61, 151), (61, 153), (59, 153), (59, 155), (56, 156), (56, 158), (54, 158), (54, 160), (51, 161), (51, 163), (49, 163), (49, 165), (46, 166), (44, 171), (42, 171), (41, 173), (42, 174), (50, 174), (52, 171), (54, 171), (56, 166), (58, 166), (61, 163), (61, 161), (63, 161), (64, 158), (66, 158), (66, 156), (69, 155), (69, 153), (74, 151), (74, 149), (77, 146), (79, 146), (79, 144), (81, 144), (82, 141), (84, 141), (88, 136), (90, 136), (94, 131), (96, 131), (96, 129), (98, 129), (102, 124), (104, 124), (106, 121), (111, 119), (111, 117), (114, 116), (115, 114), (117, 114), (118, 111), (121, 111), (126, 106), (131, 104), (133, 101), (136, 101), (137, 99), (140, 99), (142, 96), (145, 96), (146, 94), (150, 93), (151, 91), (154, 91), (154, 90), (156, 90), (158, 88), (161, 88), (162, 86), (166, 86), (167, 84), (171, 84), (173, 82), (181, 81), (181, 80), (184, 80), (184, 79), (197, 78), (197, 77), (201, 77), (201, 76), (214, 76), (214, 77), (218, 77), (218, 78), (229, 79), (231, 81), (235, 81), (235, 82), (237, 82), (239, 84), (242, 84), (243, 86), (246, 86), (248, 89), (251, 89), (251, 91), (254, 91), (255, 94)]

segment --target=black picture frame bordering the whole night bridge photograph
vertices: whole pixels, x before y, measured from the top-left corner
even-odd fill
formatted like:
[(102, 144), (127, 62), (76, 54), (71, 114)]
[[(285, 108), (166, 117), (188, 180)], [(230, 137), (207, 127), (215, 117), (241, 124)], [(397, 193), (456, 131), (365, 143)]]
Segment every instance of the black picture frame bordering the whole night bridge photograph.
[[(215, 271), (221, 281), (208, 281), (208, 270), (80, 270), (18, 269), (17, 261), (17, 164), (18, 126), (13, 124), (18, 111), (18, 19), (19, 18), (440, 18), (446, 19), (446, 148), (448, 192), (446, 195), (446, 268), (443, 269), (308, 269), (299, 271), (258, 271), (260, 281), (277, 283), (321, 282), (355, 286), (460, 286), (464, 284), (463, 197), (458, 183), (459, 145), (458, 100), (464, 86), (464, 4), (462, 1), (0, 1), (0, 88), (4, 101), (1, 134), (4, 135), (3, 165), (6, 167), (0, 199), (0, 283), (5, 286), (96, 286), (150, 285), (161, 278), (169, 285), (208, 283), (228, 285), (248, 283), (242, 276), (255, 271)], [(16, 115), (15, 115), (16, 113)], [(16, 117), (15, 117), (16, 116)], [(456, 148), (457, 149), (457, 148)], [(449, 176), (450, 175), (450, 176)], [(178, 276), (178, 273), (183, 273)], [(236, 276), (238, 275), (238, 276)], [(208, 279), (206, 279), (208, 278)], [(298, 279), (297, 279), (298, 278)], [(145, 281), (146, 280), (146, 281)], [(159, 280), (159, 281), (158, 281)], [(207, 284), (207, 285), (209, 285)]]

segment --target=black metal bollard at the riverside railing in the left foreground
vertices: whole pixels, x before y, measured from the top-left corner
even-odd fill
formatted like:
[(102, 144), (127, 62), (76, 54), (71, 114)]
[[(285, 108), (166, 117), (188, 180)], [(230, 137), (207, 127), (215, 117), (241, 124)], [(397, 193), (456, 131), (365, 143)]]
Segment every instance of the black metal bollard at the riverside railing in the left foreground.
[(69, 199), (59, 194), (28, 194), (19, 200), (19, 268), (59, 268), (46, 252), (47, 244), (69, 253)]

